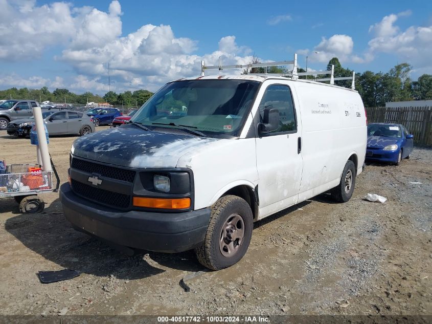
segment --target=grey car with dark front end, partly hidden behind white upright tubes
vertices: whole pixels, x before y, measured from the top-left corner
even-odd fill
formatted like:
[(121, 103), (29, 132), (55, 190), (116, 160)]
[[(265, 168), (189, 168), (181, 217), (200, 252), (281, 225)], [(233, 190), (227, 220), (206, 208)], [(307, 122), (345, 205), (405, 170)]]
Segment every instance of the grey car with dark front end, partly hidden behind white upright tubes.
[[(93, 120), (82, 112), (70, 110), (42, 112), (50, 135), (79, 134), (86, 135), (95, 131)], [(7, 127), (9, 135), (26, 137), (30, 135), (34, 117), (18, 119), (10, 122)]]

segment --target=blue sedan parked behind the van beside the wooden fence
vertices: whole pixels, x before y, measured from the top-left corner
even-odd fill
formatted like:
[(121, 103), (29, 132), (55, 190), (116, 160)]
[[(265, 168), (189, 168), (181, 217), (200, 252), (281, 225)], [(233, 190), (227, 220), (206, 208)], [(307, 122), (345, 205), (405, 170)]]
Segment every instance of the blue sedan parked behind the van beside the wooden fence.
[(369, 124), (366, 161), (399, 165), (402, 159), (410, 158), (413, 145), (413, 135), (403, 125)]

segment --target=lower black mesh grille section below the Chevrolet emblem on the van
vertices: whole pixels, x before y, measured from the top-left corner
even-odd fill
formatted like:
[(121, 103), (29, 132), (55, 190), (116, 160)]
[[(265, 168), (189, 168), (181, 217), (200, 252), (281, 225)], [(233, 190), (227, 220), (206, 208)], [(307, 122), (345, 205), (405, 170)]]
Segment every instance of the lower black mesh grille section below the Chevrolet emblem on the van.
[(118, 208), (127, 208), (130, 204), (130, 196), (123, 195), (123, 193), (117, 193), (112, 191), (107, 191), (104, 189), (99, 189), (87, 184), (78, 182), (71, 179), (72, 190), (85, 199), (93, 200), (97, 203), (104, 205), (109, 205)]

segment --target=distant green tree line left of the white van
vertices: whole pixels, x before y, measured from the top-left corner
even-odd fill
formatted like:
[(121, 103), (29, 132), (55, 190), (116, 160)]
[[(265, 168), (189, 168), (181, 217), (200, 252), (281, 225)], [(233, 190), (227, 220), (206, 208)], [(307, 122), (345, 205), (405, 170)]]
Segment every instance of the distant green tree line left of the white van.
[(51, 101), (82, 105), (85, 105), (87, 102), (108, 102), (113, 105), (141, 106), (152, 95), (153, 93), (148, 90), (125, 91), (119, 94), (109, 91), (101, 97), (88, 91), (83, 94), (76, 94), (67, 89), (58, 88), (50, 92), (48, 87), (42, 87), (41, 89), (10, 88), (0, 91), (0, 99), (34, 99), (40, 102)]

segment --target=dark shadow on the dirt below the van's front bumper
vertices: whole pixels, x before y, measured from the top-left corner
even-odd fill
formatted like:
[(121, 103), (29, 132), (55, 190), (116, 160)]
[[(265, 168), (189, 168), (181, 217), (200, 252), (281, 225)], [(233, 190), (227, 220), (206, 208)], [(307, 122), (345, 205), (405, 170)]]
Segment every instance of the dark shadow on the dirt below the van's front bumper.
[[(115, 275), (119, 279), (143, 279), (167, 268), (199, 271), (193, 251), (167, 254), (137, 251), (132, 256), (112, 249), (96, 237), (74, 230), (63, 216), (59, 199), (44, 212), (18, 214), (5, 222), (5, 229), (30, 250), (61, 268), (73, 269), (95, 276)], [(40, 271), (59, 270), (58, 267)]]

